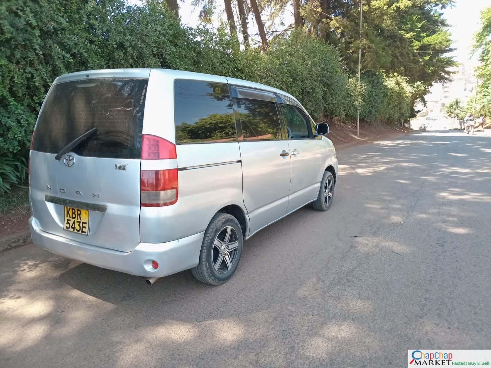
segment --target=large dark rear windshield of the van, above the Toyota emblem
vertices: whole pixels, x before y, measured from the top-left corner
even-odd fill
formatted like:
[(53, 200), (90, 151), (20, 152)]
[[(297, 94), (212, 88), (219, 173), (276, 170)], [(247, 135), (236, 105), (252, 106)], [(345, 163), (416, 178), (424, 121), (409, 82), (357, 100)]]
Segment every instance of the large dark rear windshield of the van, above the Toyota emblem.
[(84, 79), (53, 85), (39, 115), (34, 151), (58, 153), (97, 128), (72, 152), (100, 158), (140, 158), (148, 79)]

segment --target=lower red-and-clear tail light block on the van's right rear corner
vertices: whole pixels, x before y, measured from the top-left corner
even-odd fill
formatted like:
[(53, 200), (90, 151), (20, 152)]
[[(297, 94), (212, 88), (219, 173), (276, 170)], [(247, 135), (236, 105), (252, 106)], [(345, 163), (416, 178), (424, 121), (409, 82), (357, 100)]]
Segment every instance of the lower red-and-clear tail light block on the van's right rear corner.
[(141, 170), (140, 201), (142, 207), (170, 206), (179, 196), (177, 169)]

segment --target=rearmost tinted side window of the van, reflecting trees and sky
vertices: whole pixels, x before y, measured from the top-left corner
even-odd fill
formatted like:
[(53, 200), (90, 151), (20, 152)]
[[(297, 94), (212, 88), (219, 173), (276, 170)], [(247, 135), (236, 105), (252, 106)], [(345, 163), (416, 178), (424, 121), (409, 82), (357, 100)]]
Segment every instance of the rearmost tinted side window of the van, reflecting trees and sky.
[(177, 143), (237, 140), (234, 110), (227, 84), (176, 80), (174, 119)]

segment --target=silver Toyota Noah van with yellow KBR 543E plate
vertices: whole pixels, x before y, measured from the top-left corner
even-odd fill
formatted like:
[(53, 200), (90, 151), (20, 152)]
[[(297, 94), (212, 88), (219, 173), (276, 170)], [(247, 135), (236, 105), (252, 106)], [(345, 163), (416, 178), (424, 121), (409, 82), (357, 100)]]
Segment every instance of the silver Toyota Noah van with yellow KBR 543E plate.
[(55, 79), (29, 156), (32, 240), (61, 256), (157, 278), (221, 284), (244, 240), (332, 204), (327, 124), (240, 79), (114, 69)]

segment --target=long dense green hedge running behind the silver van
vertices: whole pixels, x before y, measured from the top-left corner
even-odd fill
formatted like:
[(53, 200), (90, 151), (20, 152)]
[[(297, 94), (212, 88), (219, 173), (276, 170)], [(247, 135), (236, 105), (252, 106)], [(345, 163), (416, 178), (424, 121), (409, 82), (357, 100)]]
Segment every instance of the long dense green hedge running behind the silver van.
[(258, 81), (296, 96), (320, 115), (398, 124), (413, 86), (398, 76), (345, 71), (331, 45), (302, 31), (276, 37), (266, 53), (240, 51), (226, 26), (182, 27), (163, 3), (123, 0), (3, 0), (0, 13), (0, 157), (27, 158), (42, 101), (62, 74), (105, 68), (169, 68)]

